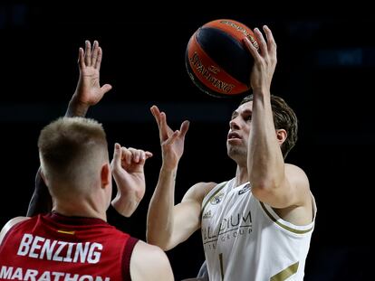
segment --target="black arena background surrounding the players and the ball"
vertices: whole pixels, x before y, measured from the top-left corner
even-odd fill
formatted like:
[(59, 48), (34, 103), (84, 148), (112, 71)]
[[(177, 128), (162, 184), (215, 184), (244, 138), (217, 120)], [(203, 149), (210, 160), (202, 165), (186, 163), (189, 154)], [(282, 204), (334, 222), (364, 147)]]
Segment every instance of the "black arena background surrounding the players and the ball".
[[(236, 164), (226, 156), (226, 133), (240, 98), (213, 98), (187, 77), (187, 41), (208, 21), (230, 18), (251, 28), (268, 24), (278, 45), (272, 92), (294, 108), (299, 142), (288, 156), (308, 174), (318, 205), (305, 280), (370, 280), (371, 197), (375, 134), (374, 16), (370, 8), (317, 2), (145, 2), (104, 5), (0, 4), (0, 222), (25, 215), (39, 166), (40, 129), (63, 116), (78, 80), (78, 48), (98, 40), (101, 83), (113, 89), (91, 108), (115, 141), (149, 150), (147, 192), (125, 220), (145, 239), (146, 213), (160, 166), (159, 134), (149, 113), (157, 104), (173, 128), (189, 119), (178, 168), (176, 201), (192, 184), (225, 181)], [(200, 233), (168, 251), (176, 279), (196, 276), (204, 260)], [(372, 275), (371, 275), (372, 276)]]

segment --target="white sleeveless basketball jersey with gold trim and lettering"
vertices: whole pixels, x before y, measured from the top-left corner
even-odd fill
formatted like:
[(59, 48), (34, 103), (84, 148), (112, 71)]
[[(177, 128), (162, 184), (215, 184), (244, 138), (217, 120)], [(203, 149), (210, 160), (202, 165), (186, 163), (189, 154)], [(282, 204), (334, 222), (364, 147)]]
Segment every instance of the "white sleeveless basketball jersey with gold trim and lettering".
[(219, 183), (202, 202), (202, 240), (210, 281), (303, 280), (313, 220), (296, 226), (258, 201), (250, 184)]

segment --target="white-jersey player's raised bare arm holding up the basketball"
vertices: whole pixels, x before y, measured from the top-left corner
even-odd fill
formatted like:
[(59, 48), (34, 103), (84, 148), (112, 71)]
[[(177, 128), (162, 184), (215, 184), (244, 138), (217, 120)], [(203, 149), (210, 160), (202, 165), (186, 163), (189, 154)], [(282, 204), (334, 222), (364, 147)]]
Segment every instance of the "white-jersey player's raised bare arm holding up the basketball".
[(249, 182), (255, 196), (274, 208), (311, 206), (305, 173), (294, 165), (284, 163), (281, 144), (287, 133), (284, 128), (275, 129), (271, 105), (276, 43), (267, 26), (264, 26), (264, 33), (266, 39), (259, 29), (255, 29), (259, 52), (245, 40), (255, 61), (250, 79), (254, 100), (247, 157)]

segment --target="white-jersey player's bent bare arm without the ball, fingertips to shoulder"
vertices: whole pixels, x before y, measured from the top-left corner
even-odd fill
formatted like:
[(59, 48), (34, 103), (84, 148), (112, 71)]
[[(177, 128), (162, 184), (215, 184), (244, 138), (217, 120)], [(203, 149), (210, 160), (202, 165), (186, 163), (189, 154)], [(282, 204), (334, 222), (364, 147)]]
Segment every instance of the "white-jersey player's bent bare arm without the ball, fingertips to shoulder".
[(156, 106), (150, 109), (159, 126), (162, 165), (159, 181), (149, 202), (147, 240), (150, 244), (168, 250), (199, 229), (201, 202), (207, 186), (212, 186), (212, 183), (197, 183), (175, 205), (178, 162), (184, 152), (189, 123), (184, 121), (179, 130), (172, 131), (167, 124), (166, 114)]

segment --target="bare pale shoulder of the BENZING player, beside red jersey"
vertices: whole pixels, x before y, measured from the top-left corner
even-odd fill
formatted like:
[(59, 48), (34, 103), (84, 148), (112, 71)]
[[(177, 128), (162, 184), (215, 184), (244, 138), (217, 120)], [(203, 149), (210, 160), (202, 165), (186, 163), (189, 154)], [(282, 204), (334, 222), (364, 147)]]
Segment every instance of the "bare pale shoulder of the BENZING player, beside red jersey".
[(130, 276), (133, 280), (174, 280), (166, 253), (141, 240), (131, 255)]

